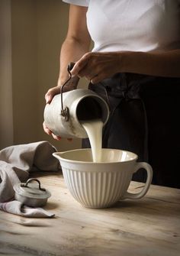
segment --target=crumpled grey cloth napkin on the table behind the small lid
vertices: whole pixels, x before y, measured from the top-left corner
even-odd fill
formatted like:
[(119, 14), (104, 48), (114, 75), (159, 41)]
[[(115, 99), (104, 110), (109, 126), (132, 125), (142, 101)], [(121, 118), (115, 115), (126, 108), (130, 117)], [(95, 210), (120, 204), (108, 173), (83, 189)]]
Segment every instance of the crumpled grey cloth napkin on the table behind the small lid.
[(0, 151), (0, 209), (28, 217), (50, 217), (40, 208), (30, 208), (14, 200), (13, 186), (26, 182), (34, 170), (58, 171), (59, 161), (53, 157), (56, 148), (48, 141), (19, 144)]

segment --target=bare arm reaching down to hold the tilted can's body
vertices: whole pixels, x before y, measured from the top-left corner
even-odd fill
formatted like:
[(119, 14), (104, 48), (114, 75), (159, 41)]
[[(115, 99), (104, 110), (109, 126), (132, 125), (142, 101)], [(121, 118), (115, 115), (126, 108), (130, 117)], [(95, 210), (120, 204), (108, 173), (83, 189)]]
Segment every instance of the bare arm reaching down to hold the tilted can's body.
[[(53, 96), (60, 92), (60, 86), (69, 78), (67, 71), (68, 64), (70, 62), (76, 62), (89, 50), (91, 37), (88, 34), (86, 25), (86, 12), (87, 7), (70, 5), (69, 28), (59, 57), (59, 79), (57, 86), (48, 90), (45, 96), (47, 103), (53, 99)], [(78, 77), (71, 79), (65, 90), (75, 89), (78, 81)]]

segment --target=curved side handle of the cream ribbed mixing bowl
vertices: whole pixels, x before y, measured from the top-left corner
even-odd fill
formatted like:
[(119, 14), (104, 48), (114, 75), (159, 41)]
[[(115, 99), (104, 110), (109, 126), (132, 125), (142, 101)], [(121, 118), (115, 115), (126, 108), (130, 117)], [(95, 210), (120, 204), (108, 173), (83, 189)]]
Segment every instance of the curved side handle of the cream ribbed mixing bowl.
[(149, 186), (150, 186), (150, 184), (152, 182), (152, 178), (153, 178), (153, 169), (149, 164), (147, 164), (145, 162), (139, 162), (136, 164), (134, 173), (136, 173), (137, 170), (139, 170), (140, 168), (145, 169), (147, 172), (147, 179), (146, 179), (145, 186), (143, 187), (143, 190), (141, 190), (139, 193), (126, 192), (124, 194), (123, 199), (140, 199), (143, 196), (145, 196), (147, 191), (149, 190)]

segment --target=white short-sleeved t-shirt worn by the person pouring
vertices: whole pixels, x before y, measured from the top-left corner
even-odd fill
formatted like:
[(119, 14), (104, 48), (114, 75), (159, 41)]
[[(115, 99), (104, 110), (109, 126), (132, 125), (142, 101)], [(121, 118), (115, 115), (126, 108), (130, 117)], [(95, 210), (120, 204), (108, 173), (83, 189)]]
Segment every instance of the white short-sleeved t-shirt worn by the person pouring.
[(93, 51), (180, 48), (180, 0), (63, 0), (88, 6)]

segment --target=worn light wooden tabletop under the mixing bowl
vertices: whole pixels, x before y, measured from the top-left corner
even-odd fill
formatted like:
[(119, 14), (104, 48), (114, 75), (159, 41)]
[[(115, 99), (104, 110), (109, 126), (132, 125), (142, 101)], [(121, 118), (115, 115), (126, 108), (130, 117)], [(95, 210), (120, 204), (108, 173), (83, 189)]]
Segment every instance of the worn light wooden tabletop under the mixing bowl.
[[(87, 209), (72, 198), (60, 173), (38, 173), (52, 193), (52, 219), (0, 212), (1, 255), (179, 256), (180, 190), (150, 186), (143, 199)], [(131, 192), (142, 183), (133, 182)]]

